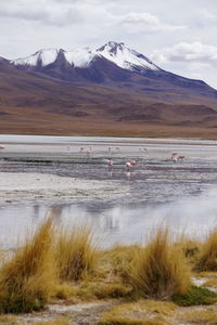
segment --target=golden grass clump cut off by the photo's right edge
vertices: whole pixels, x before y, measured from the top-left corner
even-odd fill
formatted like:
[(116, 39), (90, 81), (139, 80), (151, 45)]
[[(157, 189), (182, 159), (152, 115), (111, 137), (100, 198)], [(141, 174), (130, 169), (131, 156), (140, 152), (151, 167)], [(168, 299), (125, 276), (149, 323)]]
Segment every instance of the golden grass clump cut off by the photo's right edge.
[(195, 263), (195, 271), (217, 271), (217, 227), (209, 233)]

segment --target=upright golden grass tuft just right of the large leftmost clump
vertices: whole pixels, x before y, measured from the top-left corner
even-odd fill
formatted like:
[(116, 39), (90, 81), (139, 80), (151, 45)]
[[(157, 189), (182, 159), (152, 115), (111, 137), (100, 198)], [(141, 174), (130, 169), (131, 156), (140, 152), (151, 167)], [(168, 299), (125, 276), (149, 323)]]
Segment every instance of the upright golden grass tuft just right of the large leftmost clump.
[(56, 263), (62, 281), (79, 281), (95, 270), (97, 247), (89, 227), (62, 230), (56, 243)]

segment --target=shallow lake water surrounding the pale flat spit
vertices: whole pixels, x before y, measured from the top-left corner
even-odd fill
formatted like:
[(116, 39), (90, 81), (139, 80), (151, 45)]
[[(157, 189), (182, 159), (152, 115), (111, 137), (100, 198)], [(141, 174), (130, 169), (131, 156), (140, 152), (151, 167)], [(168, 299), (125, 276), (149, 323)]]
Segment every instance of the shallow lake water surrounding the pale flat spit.
[[(17, 235), (22, 237), (26, 226), (38, 224), (49, 210), (64, 224), (88, 221), (104, 246), (144, 240), (163, 222), (175, 234), (184, 230), (197, 236), (217, 224), (216, 141), (4, 135), (0, 142), (5, 146), (0, 171), (115, 180), (130, 188), (117, 197), (4, 205), (0, 242), (5, 247), (14, 247)], [(91, 146), (93, 154), (79, 153), (80, 146)], [(144, 146), (148, 153), (141, 150)], [(184, 155), (183, 161), (174, 164), (173, 152)], [(110, 157), (112, 168), (106, 165)], [(139, 164), (127, 172), (125, 162), (132, 157)]]

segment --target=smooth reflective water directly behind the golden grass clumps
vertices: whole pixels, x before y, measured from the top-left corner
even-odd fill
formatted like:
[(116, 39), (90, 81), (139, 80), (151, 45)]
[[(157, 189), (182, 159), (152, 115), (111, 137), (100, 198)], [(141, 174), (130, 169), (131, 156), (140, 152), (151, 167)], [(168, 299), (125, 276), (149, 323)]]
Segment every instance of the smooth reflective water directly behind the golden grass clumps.
[[(203, 236), (217, 224), (217, 191), (204, 192), (197, 197), (157, 205), (106, 205), (100, 202), (82, 204), (38, 204), (0, 209), (0, 242), (14, 247), (17, 236), (22, 240), (26, 229), (35, 229), (48, 214), (55, 223), (73, 226), (87, 222), (105, 238), (103, 246), (114, 243), (141, 243), (162, 223), (174, 234)], [(97, 213), (98, 212), (98, 213)]]

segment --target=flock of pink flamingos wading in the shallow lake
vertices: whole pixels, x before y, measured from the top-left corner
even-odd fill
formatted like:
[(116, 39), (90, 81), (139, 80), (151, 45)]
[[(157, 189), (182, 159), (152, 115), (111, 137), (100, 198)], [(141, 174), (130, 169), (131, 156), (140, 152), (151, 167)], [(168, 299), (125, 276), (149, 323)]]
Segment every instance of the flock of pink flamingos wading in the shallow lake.
[[(0, 146), (0, 151), (3, 151), (5, 147), (4, 146)], [(108, 155), (111, 155), (112, 154), (112, 147), (111, 146), (108, 146), (107, 147), (107, 154)], [(69, 151), (69, 145), (67, 146), (67, 151)], [(120, 148), (118, 147), (118, 146), (116, 146), (115, 147), (115, 152), (116, 153), (119, 153), (120, 152)], [(148, 150), (145, 148), (145, 147), (139, 147), (139, 152), (140, 153), (148, 153)], [(84, 153), (84, 154), (86, 154), (88, 157), (90, 157), (92, 154), (93, 154), (93, 151), (92, 151), (92, 147), (90, 146), (90, 147), (88, 147), (88, 148), (86, 148), (86, 147), (80, 147), (80, 150), (79, 150), (79, 153)], [(174, 161), (174, 162), (178, 162), (179, 160), (183, 160), (186, 158), (186, 156), (179, 156), (179, 154), (178, 153), (173, 153), (171, 154), (171, 157), (170, 157), (170, 159), (171, 159), (171, 161)], [(113, 164), (114, 164), (114, 161), (112, 160), (112, 159), (107, 159), (107, 166), (110, 166), (110, 167), (112, 167), (113, 166)], [(136, 165), (138, 165), (138, 161), (137, 160), (127, 160), (126, 161), (126, 164), (125, 164), (125, 166), (126, 166), (126, 169), (129, 171), (133, 166), (136, 166)]]

